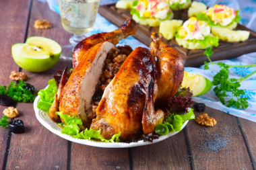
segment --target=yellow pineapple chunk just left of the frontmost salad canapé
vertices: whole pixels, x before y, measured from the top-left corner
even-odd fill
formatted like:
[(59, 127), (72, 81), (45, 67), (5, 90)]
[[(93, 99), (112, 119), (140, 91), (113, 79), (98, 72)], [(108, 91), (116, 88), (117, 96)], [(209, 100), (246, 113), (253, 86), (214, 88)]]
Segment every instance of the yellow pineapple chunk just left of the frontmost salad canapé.
[(161, 33), (166, 40), (171, 40), (172, 38), (174, 38), (177, 32), (177, 29), (180, 26), (182, 26), (182, 24), (183, 24), (183, 20), (178, 20), (178, 19), (166, 20), (160, 23), (159, 33)]

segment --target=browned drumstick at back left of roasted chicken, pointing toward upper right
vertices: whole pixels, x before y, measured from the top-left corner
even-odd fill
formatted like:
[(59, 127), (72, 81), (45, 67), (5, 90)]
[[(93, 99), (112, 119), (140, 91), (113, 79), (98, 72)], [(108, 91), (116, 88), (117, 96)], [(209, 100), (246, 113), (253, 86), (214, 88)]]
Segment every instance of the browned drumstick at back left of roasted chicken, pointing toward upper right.
[(81, 58), (84, 57), (84, 54), (89, 48), (100, 43), (100, 42), (112, 42), (113, 44), (118, 44), (119, 40), (123, 38), (127, 38), (127, 36), (131, 36), (136, 34), (137, 24), (133, 19), (127, 19), (123, 24), (119, 27), (118, 30), (114, 30), (113, 32), (102, 32), (99, 34), (94, 34), (85, 38), (81, 42), (79, 42), (74, 50), (73, 50), (73, 69), (77, 67)]

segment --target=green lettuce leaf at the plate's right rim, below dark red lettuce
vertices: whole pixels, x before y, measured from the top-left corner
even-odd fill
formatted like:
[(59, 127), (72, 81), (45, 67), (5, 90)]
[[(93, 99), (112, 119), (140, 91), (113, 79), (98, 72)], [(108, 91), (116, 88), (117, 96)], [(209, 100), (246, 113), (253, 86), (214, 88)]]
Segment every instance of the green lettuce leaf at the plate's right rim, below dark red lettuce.
[(184, 122), (191, 119), (195, 119), (193, 109), (189, 110), (187, 114), (171, 114), (163, 124), (156, 126), (155, 132), (165, 135), (172, 131), (181, 131), (181, 126), (183, 126)]

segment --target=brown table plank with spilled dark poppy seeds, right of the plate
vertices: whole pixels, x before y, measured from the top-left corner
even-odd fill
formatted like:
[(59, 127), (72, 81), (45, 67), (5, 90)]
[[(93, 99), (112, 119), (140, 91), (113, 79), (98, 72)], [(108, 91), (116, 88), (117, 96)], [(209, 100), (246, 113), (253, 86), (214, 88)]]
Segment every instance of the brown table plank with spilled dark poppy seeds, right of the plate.
[[(216, 119), (214, 127), (203, 127), (189, 121), (186, 126), (195, 169), (252, 169), (249, 153), (236, 117), (207, 108)], [(198, 116), (201, 113), (195, 113)], [(255, 123), (253, 123), (255, 126)], [(253, 138), (251, 138), (253, 140)]]

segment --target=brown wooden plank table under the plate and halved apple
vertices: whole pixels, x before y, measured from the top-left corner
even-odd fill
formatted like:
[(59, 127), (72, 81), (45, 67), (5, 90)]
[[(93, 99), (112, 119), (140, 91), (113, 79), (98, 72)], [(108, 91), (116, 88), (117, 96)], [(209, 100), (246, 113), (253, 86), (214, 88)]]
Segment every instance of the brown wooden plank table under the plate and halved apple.
[[(49, 30), (33, 28), (36, 19), (48, 19)], [(0, 85), (9, 85), (11, 71), (24, 71), (11, 57), (11, 45), (30, 36), (51, 38), (61, 46), (69, 44), (71, 34), (61, 27), (61, 18), (46, 3), (31, 0), (0, 1)], [(24, 71), (36, 88), (46, 87), (53, 73), (71, 66), (60, 59), (44, 73)], [(255, 169), (256, 123), (207, 108), (216, 118), (212, 128), (193, 120), (179, 134), (156, 144), (134, 148), (96, 148), (69, 142), (44, 128), (32, 103), (14, 105), (21, 114), (26, 132), (11, 134), (0, 128), (0, 165), (2, 169)], [(0, 112), (6, 107), (0, 105)], [(199, 115), (195, 113), (196, 116)], [(2, 117), (1, 115), (0, 117)]]

